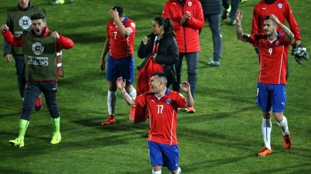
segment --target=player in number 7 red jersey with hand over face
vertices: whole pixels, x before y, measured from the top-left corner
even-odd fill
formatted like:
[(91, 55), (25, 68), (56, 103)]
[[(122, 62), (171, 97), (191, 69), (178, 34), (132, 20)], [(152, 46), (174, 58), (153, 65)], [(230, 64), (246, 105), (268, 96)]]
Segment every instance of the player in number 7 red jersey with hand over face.
[[(135, 98), (136, 89), (133, 87), (134, 78), (134, 39), (135, 23), (123, 14), (123, 8), (115, 6), (109, 10), (108, 14), (112, 17), (106, 25), (106, 41), (100, 58), (100, 68), (105, 70), (105, 57), (108, 52), (108, 65), (106, 80), (109, 83), (107, 105), (109, 116), (102, 125), (115, 124), (115, 92), (117, 86), (115, 80), (122, 76), (126, 79), (126, 91)], [(135, 117), (135, 107), (131, 107), (130, 120)]]

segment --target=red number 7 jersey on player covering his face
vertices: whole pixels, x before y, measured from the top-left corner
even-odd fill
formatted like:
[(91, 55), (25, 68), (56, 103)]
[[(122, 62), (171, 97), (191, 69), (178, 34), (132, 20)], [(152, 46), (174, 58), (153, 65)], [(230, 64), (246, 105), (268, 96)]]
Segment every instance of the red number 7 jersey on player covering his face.
[(125, 58), (134, 54), (135, 23), (128, 17), (125, 17), (122, 24), (125, 28), (131, 30), (129, 36), (122, 36), (113, 19), (107, 22), (106, 36), (110, 39), (109, 52), (110, 56), (115, 59)]

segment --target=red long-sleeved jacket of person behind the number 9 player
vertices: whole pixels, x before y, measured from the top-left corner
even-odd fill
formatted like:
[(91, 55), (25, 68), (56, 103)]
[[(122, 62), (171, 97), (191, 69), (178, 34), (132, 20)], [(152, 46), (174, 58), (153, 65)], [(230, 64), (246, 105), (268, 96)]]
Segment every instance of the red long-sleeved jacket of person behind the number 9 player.
[[(290, 25), (290, 30), (294, 33), (295, 39), (301, 40), (299, 26), (296, 23), (294, 14), (292, 14), (290, 4), (286, 0), (276, 0), (272, 4), (267, 4), (265, 1), (258, 3), (253, 12), (252, 34), (263, 33), (263, 21), (265, 21), (265, 17), (270, 14), (274, 14), (283, 25), (285, 25), (286, 19)], [(281, 28), (277, 30), (281, 32), (281, 34), (284, 34)]]

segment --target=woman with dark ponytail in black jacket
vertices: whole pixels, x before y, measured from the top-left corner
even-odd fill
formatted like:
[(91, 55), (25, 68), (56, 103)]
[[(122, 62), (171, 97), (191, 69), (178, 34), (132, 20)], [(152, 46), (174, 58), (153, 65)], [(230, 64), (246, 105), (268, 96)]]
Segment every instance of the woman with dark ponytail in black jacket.
[[(162, 66), (162, 70), (167, 74), (167, 87), (176, 81), (175, 63), (178, 61), (178, 45), (175, 39), (173, 22), (171, 19), (156, 17), (152, 22), (152, 32), (144, 39), (138, 47), (138, 57), (145, 58), (145, 61), (138, 67), (144, 67), (144, 63), (152, 58), (153, 63)], [(150, 74), (151, 75), (151, 74)]]

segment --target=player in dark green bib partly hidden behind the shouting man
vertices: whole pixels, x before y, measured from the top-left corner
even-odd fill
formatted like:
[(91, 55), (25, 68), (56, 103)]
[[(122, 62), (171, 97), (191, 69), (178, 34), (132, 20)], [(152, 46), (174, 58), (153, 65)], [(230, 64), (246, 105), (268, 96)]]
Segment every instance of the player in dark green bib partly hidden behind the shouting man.
[[(30, 31), (32, 14), (45, 14), (45, 10), (32, 5), (29, 0), (18, 0), (17, 7), (10, 8), (7, 11), (6, 25), (10, 28), (10, 32), (14, 36), (23, 34), (23, 31)], [(13, 55), (15, 59), (15, 67), (17, 74), (17, 84), (19, 86), (19, 95), (21, 99), (24, 98), (26, 78), (25, 78), (25, 61), (23, 60), (23, 49), (21, 47), (11, 47), (10, 44), (4, 43), (3, 55), (6, 57), (6, 61), (11, 63)], [(41, 96), (39, 96), (35, 102), (35, 111), (42, 110)]]

